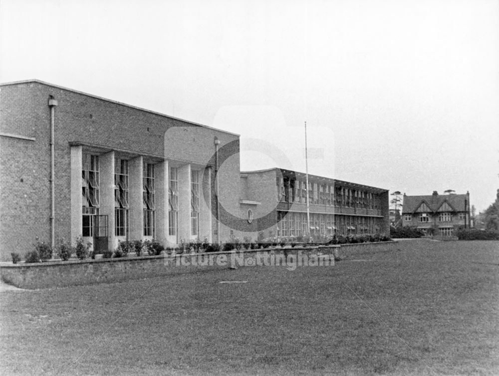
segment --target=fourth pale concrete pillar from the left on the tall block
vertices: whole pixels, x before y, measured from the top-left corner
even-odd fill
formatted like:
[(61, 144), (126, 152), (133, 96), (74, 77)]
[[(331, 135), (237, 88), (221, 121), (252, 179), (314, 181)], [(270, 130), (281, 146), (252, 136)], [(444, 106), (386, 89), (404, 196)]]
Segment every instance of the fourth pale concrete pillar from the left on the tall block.
[(168, 160), (154, 166), (154, 190), (156, 199), (156, 239), (163, 245), (168, 243), (168, 188), (169, 167)]

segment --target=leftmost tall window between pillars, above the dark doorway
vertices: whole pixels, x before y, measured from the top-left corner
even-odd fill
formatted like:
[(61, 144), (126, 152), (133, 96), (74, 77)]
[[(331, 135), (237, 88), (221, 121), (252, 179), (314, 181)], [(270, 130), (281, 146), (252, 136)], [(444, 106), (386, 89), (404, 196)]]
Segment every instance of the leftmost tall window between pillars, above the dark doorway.
[(82, 229), (84, 237), (93, 236), (93, 219), (99, 214), (99, 157), (82, 155), (81, 170)]

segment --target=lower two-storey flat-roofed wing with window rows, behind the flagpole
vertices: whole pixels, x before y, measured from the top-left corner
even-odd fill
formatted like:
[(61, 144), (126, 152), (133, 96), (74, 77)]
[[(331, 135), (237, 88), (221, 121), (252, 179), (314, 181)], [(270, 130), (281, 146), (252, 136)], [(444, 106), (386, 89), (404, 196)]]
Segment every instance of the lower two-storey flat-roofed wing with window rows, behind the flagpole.
[[(307, 234), (388, 234), (388, 191), (361, 184), (272, 168), (242, 173), (242, 191), (257, 201), (253, 214), (263, 238), (293, 239)], [(310, 228), (303, 194), (310, 194)], [(247, 205), (248, 207), (250, 204)]]

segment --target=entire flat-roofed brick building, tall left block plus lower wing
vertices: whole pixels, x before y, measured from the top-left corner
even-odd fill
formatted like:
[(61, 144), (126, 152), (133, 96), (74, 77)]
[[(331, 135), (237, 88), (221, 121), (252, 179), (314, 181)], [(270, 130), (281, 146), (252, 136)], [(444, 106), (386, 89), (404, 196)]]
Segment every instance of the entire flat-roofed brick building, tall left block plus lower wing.
[[(141, 236), (144, 225), (141, 210), (145, 205), (141, 181), (143, 166), (147, 163), (155, 166), (156, 175), (155, 238), (165, 245), (196, 237), (192, 229), (196, 224), (192, 222), (193, 216), (197, 218), (195, 213), (199, 213), (198, 236), (201, 240), (207, 238), (213, 242), (225, 242), (231, 237), (242, 239), (250, 236), (255, 239), (258, 232), (265, 232), (265, 236), (276, 235), (279, 212), (306, 211), (303, 203), (292, 203), (290, 206), (289, 202), (277, 200), (276, 179), (279, 174), (288, 174), (289, 171), (271, 169), (241, 174), (237, 134), (41, 81), (2, 84), (1, 260), (10, 259), (11, 251), (23, 254), (32, 250), (35, 237), (51, 242), (50, 98), (57, 101), (54, 107), (55, 239), (63, 238), (74, 243), (77, 236), (84, 234), (84, 220), (88, 220), (84, 211), (90, 209), (107, 215), (108, 248), (116, 247), (119, 239), (127, 237), (131, 240), (150, 239), (151, 236)], [(215, 153), (217, 142), (218, 164)], [(90, 199), (85, 196), (89, 194), (88, 185), (93, 184), (88, 176), (87, 180), (83, 177), (85, 173), (90, 173), (83, 161), (88, 155), (97, 157), (99, 165), (98, 189), (92, 191), (99, 196), (96, 207), (88, 204)], [(128, 163), (128, 185), (118, 184), (116, 180), (121, 160)], [(180, 205), (179, 228), (174, 235), (170, 234), (169, 227), (170, 185), (175, 184), (170, 180), (172, 169), (179, 174), (176, 194)], [(198, 173), (200, 179), (197, 209), (191, 206), (194, 202), (191, 197), (194, 192), (191, 181), (193, 172)], [(311, 176), (311, 179), (359, 192), (375, 193), (380, 199), (376, 210), (368, 207), (361, 209), (360, 206), (312, 204), (312, 213), (334, 214), (341, 218), (349, 216), (351, 224), (361, 223), (354, 218), (371, 218), (375, 221), (369, 222), (372, 226), (370, 232), (388, 232), (387, 191), (322, 177)], [(118, 235), (116, 229), (119, 222), (119, 217), (115, 217), (116, 208), (123, 205), (116, 199), (117, 194), (129, 196), (129, 202), (123, 207), (129, 219), (128, 234), (124, 236)], [(217, 202), (220, 203), (219, 223), (216, 219)], [(249, 211), (253, 221), (248, 221)], [(340, 224), (344, 225), (341, 221)], [(366, 231), (357, 226), (355, 231), (350, 229), (348, 233)], [(344, 231), (338, 229), (338, 232)], [(94, 240), (90, 235), (89, 239)]]

